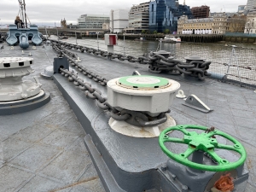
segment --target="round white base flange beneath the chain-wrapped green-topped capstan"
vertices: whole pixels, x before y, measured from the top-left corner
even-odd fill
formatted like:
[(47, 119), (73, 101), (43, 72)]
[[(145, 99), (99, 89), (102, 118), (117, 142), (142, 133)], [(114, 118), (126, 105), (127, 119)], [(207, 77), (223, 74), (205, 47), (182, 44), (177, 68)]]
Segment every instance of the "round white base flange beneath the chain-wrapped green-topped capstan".
[(129, 137), (159, 137), (160, 132), (165, 130), (169, 126), (176, 125), (176, 122), (172, 117), (168, 114), (167, 120), (165, 123), (157, 125), (157, 126), (149, 126), (149, 127), (138, 127), (135, 125), (130, 125), (125, 121), (118, 121), (113, 118), (110, 118), (108, 124), (110, 127), (119, 132), (122, 135)]

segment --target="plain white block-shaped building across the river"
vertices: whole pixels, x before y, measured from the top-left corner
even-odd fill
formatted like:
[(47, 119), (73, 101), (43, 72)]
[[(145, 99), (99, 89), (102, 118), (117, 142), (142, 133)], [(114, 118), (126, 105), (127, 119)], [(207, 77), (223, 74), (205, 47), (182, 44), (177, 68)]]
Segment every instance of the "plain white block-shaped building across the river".
[(129, 9), (110, 11), (110, 31), (123, 32), (129, 26)]

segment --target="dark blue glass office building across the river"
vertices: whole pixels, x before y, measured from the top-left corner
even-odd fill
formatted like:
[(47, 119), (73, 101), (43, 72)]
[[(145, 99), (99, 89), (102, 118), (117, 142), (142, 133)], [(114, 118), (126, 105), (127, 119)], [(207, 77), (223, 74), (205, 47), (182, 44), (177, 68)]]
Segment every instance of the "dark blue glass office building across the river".
[(155, 0), (149, 3), (149, 30), (150, 32), (177, 32), (177, 20), (187, 15), (189, 19), (193, 15), (189, 6), (179, 4), (175, 0)]

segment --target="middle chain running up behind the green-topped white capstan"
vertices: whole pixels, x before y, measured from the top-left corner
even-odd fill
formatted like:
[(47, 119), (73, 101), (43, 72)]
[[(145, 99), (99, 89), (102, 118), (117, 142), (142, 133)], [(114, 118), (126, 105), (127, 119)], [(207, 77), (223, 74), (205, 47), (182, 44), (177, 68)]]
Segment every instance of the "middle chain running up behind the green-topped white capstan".
[(61, 55), (65, 55), (67, 57), (67, 61), (69, 61), (72, 66), (75, 66), (76, 68), (78, 68), (81, 73), (83, 73), (84, 75), (87, 75), (88, 78), (93, 79), (95, 82), (98, 82), (102, 86), (107, 85), (108, 83), (107, 79), (104, 79), (101, 76), (90, 72), (85, 67), (79, 65), (79, 63), (73, 59), (73, 58), (76, 58), (76, 55), (74, 55), (72, 52), (68, 51), (67, 49), (62, 49), (61, 46), (58, 46), (57, 44), (53, 44), (52, 47), (53, 49), (55, 49), (57, 53)]

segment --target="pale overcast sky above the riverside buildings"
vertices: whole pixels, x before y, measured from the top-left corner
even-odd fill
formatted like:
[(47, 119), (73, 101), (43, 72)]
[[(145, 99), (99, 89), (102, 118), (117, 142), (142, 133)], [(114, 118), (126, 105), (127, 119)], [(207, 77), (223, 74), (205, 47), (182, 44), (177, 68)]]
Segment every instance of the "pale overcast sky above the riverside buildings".
[[(149, 0), (148, 0), (149, 1)], [(60, 26), (64, 17), (67, 24), (77, 23), (80, 15), (109, 15), (111, 9), (130, 9), (133, 4), (148, 2), (147, 0), (26, 0), (26, 14), (32, 24), (38, 26)], [(183, 3), (183, 0), (179, 0)], [(236, 12), (238, 5), (247, 4), (247, 0), (186, 0), (190, 8), (210, 6), (211, 12)], [(18, 0), (0, 0), (0, 25), (14, 23), (19, 13)]]

